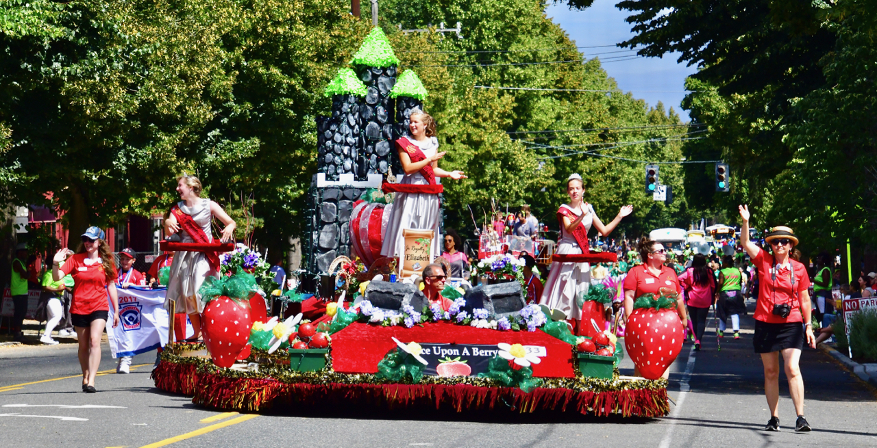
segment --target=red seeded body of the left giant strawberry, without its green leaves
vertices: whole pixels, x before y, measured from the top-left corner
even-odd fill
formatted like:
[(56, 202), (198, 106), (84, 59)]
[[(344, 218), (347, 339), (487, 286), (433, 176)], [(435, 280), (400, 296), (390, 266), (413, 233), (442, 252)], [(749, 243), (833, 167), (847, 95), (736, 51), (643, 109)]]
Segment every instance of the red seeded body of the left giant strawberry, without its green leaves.
[(204, 345), (218, 367), (232, 367), (250, 338), (250, 304), (217, 296), (204, 307)]

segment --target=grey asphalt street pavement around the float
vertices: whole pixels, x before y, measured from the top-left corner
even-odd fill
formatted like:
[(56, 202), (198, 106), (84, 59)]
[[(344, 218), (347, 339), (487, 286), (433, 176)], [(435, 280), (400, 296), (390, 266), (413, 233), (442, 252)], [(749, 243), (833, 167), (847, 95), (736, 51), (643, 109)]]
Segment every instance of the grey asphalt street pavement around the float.
[[(752, 306), (752, 304), (750, 304)], [(0, 347), (0, 440), (9, 447), (624, 447), (877, 446), (875, 390), (820, 350), (806, 349), (805, 414), (813, 431), (795, 433), (795, 410), (781, 376), (781, 432), (766, 432), (760, 360), (752, 318), (739, 340), (704, 335), (686, 345), (670, 377), (671, 416), (440, 414), (339, 409), (332, 415), (246, 415), (195, 406), (154, 388), (153, 353), (116, 374), (104, 346), (97, 394), (82, 393), (75, 344)], [(709, 321), (709, 326), (713, 326)], [(632, 374), (625, 359), (622, 374)]]

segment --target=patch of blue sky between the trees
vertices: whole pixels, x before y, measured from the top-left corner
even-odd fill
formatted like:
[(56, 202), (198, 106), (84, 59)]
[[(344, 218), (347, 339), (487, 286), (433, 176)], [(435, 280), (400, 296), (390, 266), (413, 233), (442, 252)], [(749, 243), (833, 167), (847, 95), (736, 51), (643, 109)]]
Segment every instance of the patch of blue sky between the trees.
[[(596, 0), (585, 11), (570, 11), (565, 3), (549, 4), (545, 12), (563, 31), (567, 31), (577, 46), (615, 45), (633, 36), (631, 24), (624, 21), (628, 11), (618, 10), (617, 3), (618, 0)], [(618, 52), (621, 50), (629, 49), (579, 49), (586, 57), (595, 52), (613, 52), (597, 57), (606, 73), (615, 78), (618, 88), (631, 92), (634, 98), (645, 100), (650, 107), (663, 102), (665, 109), (673, 107), (682, 121), (688, 122), (688, 112), (682, 110), (680, 103), (685, 97), (685, 78), (696, 72), (695, 67), (677, 63), (678, 53), (667, 54), (664, 58), (630, 59), (625, 55), (635, 52)], [(591, 58), (593, 56), (588, 59)]]

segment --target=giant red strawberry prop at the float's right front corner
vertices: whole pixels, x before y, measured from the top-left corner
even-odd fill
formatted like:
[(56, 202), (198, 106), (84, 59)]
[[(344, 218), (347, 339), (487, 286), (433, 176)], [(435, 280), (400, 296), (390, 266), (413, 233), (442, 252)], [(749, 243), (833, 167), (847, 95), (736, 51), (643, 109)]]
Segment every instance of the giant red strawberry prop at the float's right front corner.
[(682, 323), (676, 314), (676, 299), (662, 291), (638, 297), (627, 319), (624, 346), (639, 374), (657, 380), (673, 363), (682, 348)]

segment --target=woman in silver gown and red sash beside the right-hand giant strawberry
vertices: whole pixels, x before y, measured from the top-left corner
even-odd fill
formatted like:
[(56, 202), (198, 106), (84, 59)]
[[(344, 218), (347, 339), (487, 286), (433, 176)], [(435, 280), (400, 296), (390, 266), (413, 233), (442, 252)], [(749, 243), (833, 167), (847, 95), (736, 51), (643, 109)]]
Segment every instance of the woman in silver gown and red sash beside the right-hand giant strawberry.
[[(603, 224), (594, 213), (594, 207), (582, 201), (584, 185), (581, 176), (573, 174), (567, 179), (567, 194), (569, 204), (560, 206), (558, 221), (560, 221), (560, 240), (555, 254), (581, 254), (581, 246), (588, 244), (588, 231), (591, 227), (597, 228), (600, 235), (609, 235), (619, 222), (633, 212), (630, 205), (621, 207), (615, 219), (608, 224)], [(587, 248), (587, 246), (586, 246)], [(545, 304), (548, 308), (559, 310), (567, 315), (567, 322), (572, 325), (573, 332), (581, 332), (581, 308), (576, 303), (576, 297), (588, 292), (591, 283), (591, 267), (587, 262), (553, 262), (551, 272), (545, 281), (545, 290), (539, 298), (539, 304)]]

